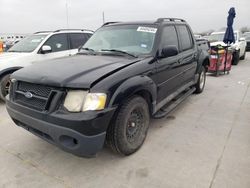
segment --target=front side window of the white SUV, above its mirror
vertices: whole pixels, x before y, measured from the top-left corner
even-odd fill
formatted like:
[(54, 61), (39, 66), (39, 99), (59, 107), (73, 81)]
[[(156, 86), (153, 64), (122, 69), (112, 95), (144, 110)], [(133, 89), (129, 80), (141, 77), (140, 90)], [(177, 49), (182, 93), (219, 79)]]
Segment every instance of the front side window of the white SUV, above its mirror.
[(52, 52), (69, 50), (67, 34), (64, 33), (51, 36), (44, 45), (50, 46)]

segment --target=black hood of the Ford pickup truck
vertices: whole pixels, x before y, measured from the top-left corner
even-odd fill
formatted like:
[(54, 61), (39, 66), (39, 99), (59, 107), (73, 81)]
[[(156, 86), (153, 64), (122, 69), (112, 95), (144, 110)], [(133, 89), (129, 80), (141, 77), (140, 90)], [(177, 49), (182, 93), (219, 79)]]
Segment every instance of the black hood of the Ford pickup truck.
[(140, 58), (123, 56), (75, 55), (41, 62), (15, 72), (12, 78), (55, 87), (89, 89)]

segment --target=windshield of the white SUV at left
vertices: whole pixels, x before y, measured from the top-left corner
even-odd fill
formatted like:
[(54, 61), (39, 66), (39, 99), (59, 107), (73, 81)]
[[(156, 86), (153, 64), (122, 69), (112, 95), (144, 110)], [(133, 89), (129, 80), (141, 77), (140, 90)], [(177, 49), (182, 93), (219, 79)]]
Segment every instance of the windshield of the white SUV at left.
[(33, 52), (47, 35), (31, 35), (16, 43), (8, 52)]

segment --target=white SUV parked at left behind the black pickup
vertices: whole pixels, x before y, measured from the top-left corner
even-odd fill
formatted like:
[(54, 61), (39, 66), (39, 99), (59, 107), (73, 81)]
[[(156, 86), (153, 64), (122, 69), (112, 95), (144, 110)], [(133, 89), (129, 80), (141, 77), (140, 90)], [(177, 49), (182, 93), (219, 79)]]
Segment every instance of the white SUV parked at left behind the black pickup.
[(0, 55), (0, 98), (5, 100), (13, 72), (39, 61), (75, 55), (92, 34), (91, 30), (43, 31), (15, 44)]

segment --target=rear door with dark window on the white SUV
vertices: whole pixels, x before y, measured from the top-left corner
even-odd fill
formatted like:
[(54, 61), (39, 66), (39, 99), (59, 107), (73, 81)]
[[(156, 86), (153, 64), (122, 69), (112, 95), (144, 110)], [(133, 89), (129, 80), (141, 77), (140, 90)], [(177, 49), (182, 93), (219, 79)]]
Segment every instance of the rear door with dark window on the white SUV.
[(78, 48), (83, 46), (90, 38), (87, 33), (69, 33), (70, 55), (75, 55)]

